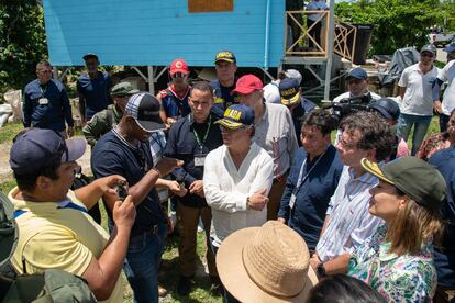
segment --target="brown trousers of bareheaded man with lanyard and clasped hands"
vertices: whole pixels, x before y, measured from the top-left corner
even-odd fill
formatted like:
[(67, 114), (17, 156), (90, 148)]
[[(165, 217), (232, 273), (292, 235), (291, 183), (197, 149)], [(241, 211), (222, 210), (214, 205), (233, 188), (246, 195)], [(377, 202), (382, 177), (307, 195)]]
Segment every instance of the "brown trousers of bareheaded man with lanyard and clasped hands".
[(188, 207), (178, 202), (177, 204), (177, 224), (180, 234), (180, 243), (178, 245), (178, 255), (180, 258), (180, 274), (191, 277), (196, 270), (196, 246), (199, 216), (202, 220), (206, 232), (207, 244), (207, 265), (210, 276), (218, 276), (215, 259), (212, 249), (210, 249), (210, 224), (212, 212), (210, 207)]

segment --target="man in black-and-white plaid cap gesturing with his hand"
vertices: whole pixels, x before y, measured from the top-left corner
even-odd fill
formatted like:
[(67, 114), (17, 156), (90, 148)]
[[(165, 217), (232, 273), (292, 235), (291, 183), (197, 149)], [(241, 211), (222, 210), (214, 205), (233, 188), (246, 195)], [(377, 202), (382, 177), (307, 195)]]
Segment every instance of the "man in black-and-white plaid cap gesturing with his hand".
[[(182, 164), (162, 158), (153, 165), (148, 137), (165, 126), (159, 106), (159, 101), (147, 92), (130, 97), (120, 123), (97, 142), (91, 154), (95, 177), (123, 176), (137, 210), (123, 267), (135, 302), (158, 302), (158, 266), (167, 235), (167, 216), (155, 183)], [(114, 200), (103, 197), (103, 201), (112, 228)]]

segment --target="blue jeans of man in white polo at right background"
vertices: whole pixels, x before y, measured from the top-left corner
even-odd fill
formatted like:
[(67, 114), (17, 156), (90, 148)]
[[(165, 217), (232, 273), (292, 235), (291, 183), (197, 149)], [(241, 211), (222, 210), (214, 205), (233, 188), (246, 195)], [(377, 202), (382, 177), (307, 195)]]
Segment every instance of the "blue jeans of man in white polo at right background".
[(400, 114), (398, 117), (397, 135), (402, 137), (404, 141), (408, 141), (409, 133), (411, 132), (412, 125), (414, 125), (411, 156), (415, 156), (422, 145), (423, 138), (429, 130), (431, 119), (431, 115), (413, 114)]

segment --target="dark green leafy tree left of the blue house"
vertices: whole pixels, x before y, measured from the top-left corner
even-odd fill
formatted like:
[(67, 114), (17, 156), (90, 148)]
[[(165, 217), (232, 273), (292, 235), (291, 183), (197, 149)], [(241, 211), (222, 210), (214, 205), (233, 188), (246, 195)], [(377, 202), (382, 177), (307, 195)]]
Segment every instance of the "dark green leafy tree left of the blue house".
[(43, 8), (36, 0), (0, 2), (0, 93), (22, 89), (47, 58)]

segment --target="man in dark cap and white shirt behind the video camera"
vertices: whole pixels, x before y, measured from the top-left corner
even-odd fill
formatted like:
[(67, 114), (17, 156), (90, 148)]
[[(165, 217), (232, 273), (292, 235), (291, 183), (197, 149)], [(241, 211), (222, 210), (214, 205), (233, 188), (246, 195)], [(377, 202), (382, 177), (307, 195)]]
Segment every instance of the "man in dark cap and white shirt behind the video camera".
[(368, 74), (362, 67), (349, 70), (346, 76), (347, 91), (333, 99), (333, 102), (340, 102), (343, 99), (363, 98), (368, 102), (380, 99), (380, 96), (368, 90)]

